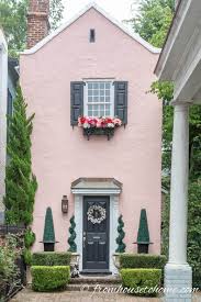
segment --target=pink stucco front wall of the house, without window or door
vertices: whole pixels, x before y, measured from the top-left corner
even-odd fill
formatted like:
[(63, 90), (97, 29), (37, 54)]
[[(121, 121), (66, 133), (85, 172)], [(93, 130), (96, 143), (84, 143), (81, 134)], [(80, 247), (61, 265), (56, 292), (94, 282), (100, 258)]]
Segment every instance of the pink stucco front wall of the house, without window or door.
[[(89, 43), (89, 30), (97, 41)], [(33, 170), (37, 177), (33, 228), (35, 250), (42, 250), (44, 215), (52, 206), (57, 250), (67, 249), (68, 222), (74, 212), (70, 184), (79, 177), (113, 177), (123, 183), (120, 212), (125, 222), (127, 251), (136, 250), (141, 209), (147, 210), (150, 253), (160, 250), (160, 136), (161, 104), (146, 93), (154, 80), (157, 55), (132, 40), (91, 9), (32, 55), (22, 55), (21, 85), (35, 112)], [(70, 126), (70, 81), (83, 78), (129, 81), (129, 123), (108, 142), (88, 142), (79, 127)], [(63, 216), (60, 200), (69, 197)]]

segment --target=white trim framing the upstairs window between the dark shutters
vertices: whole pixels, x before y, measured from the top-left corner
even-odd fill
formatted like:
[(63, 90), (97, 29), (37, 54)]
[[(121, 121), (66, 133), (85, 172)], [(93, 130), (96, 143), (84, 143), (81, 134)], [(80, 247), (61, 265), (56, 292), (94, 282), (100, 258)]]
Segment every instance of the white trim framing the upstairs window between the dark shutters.
[[(87, 83), (88, 82), (94, 82), (94, 81), (108, 81), (108, 82), (111, 82), (111, 89), (110, 89), (110, 92), (111, 92), (111, 115), (110, 118), (114, 118), (114, 79), (111, 79), (111, 78), (100, 78), (100, 79), (85, 79), (85, 88), (83, 88), (83, 115), (85, 116), (88, 116), (88, 86)], [(100, 116), (99, 116), (100, 118)]]

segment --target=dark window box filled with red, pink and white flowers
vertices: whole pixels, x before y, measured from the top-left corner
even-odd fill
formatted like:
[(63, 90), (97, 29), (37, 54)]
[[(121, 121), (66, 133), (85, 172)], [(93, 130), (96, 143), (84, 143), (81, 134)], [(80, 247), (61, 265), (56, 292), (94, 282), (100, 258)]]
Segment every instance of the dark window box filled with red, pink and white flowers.
[(78, 125), (83, 128), (88, 141), (91, 135), (105, 135), (108, 141), (114, 135), (114, 130), (121, 126), (120, 119), (80, 116)]

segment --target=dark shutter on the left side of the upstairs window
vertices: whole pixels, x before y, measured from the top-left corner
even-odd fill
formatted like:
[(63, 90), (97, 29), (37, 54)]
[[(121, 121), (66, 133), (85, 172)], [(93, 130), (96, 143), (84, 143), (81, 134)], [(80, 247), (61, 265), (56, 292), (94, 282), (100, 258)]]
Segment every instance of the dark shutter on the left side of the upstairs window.
[(83, 114), (83, 85), (82, 81), (70, 82), (70, 124), (77, 125), (79, 115)]

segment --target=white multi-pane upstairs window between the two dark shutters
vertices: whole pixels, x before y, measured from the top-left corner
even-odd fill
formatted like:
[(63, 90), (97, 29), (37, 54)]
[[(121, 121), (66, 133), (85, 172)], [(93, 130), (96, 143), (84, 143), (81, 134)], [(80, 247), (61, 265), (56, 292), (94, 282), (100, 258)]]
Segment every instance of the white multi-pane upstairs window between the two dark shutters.
[(83, 114), (114, 116), (114, 86), (111, 80), (89, 80), (85, 86)]

